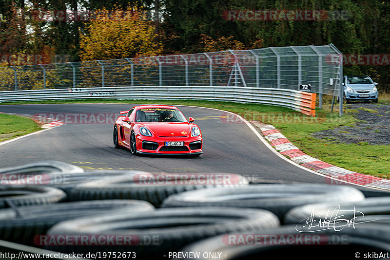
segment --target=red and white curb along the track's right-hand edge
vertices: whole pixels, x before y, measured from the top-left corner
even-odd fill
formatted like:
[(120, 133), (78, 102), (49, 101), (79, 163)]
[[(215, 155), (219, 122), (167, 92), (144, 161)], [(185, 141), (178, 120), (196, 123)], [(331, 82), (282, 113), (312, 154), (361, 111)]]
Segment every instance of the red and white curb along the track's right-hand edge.
[(390, 190), (390, 180), (379, 177), (361, 174), (337, 167), (326, 162), (320, 161), (294, 146), (279, 130), (272, 125), (260, 127), (261, 133), (267, 139), (271, 146), (280, 154), (288, 156), (293, 162), (309, 168), (317, 173), (332, 177), (334, 179), (358, 184), (362, 186)]

